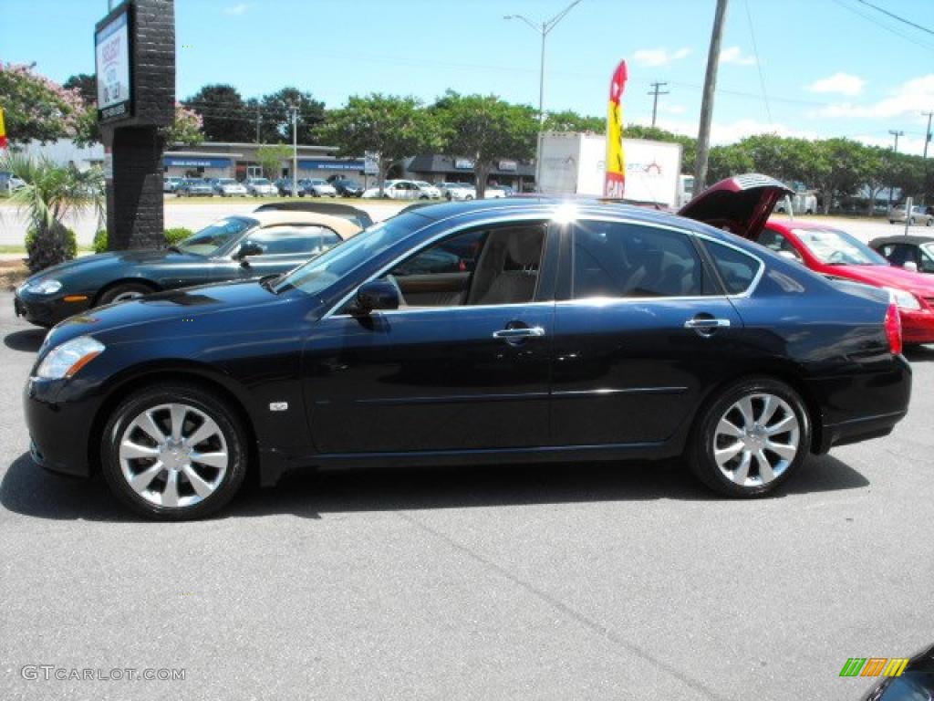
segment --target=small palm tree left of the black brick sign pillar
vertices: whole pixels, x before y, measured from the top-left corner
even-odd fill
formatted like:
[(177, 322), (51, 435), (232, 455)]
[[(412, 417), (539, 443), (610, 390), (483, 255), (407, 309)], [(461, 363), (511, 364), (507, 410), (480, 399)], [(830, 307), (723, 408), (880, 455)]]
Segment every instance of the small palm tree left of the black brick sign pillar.
[(26, 265), (37, 272), (75, 257), (75, 235), (64, 225), (69, 214), (93, 208), (104, 219), (104, 175), (100, 168), (80, 171), (74, 165), (57, 165), (48, 158), (33, 159), (10, 153), (0, 159), (0, 170), (22, 179), (26, 185), (12, 193), (29, 219)]

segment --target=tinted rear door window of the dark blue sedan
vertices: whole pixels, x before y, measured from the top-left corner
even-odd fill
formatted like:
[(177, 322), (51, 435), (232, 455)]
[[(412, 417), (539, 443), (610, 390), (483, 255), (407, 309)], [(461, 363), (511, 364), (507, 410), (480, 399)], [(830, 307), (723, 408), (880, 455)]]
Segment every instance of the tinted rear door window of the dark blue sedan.
[(627, 222), (578, 222), (571, 289), (587, 297), (676, 297), (713, 293), (685, 234)]

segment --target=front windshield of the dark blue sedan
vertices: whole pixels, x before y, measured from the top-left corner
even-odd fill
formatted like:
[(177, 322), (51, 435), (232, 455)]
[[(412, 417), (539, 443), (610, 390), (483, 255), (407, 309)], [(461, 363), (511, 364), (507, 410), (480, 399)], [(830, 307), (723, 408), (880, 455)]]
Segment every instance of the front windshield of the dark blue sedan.
[(274, 291), (280, 293), (296, 288), (305, 294), (321, 293), (426, 223), (421, 217), (404, 214), (375, 223), (361, 234), (292, 270), (276, 284)]

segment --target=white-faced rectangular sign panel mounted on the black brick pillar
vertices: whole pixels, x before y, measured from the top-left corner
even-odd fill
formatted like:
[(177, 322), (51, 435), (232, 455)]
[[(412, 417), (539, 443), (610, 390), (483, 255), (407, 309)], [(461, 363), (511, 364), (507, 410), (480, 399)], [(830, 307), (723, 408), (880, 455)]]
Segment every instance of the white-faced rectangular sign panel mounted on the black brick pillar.
[(129, 9), (120, 12), (94, 34), (97, 117), (101, 122), (120, 120), (133, 114), (130, 35)]

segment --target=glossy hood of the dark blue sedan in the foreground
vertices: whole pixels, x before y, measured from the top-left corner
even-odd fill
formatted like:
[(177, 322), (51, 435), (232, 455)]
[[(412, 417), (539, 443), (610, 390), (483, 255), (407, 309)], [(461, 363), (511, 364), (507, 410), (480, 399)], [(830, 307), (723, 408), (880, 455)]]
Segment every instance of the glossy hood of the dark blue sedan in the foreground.
[[(166, 333), (172, 333), (173, 336), (203, 334), (204, 327), (199, 329), (199, 320), (222, 313), (233, 314), (236, 320), (239, 320), (232, 319), (229, 325), (223, 324), (224, 329), (229, 329), (237, 323), (243, 323), (245, 310), (276, 301), (286, 302), (288, 298), (284, 295), (276, 296), (258, 280), (148, 294), (69, 317), (50, 331), (43, 346), (58, 345), (70, 338), (84, 335), (100, 336), (111, 341), (117, 336), (118, 342), (140, 339), (147, 336), (145, 329), (140, 327), (147, 326), (152, 335), (156, 336), (164, 336)], [(120, 333), (130, 328), (133, 329), (132, 333)]]

